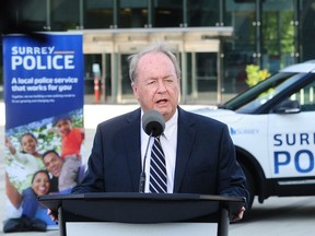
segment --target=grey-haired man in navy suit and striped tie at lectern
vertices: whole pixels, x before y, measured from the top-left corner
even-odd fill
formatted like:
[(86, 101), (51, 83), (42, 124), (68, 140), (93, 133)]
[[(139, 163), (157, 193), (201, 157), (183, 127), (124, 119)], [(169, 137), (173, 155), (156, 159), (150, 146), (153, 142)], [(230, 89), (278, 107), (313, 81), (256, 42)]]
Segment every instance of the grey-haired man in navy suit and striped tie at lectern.
[[(166, 45), (151, 45), (129, 59), (131, 86), (140, 108), (98, 125), (88, 172), (72, 192), (137, 192), (144, 168), (149, 175), (144, 192), (247, 198), (228, 126), (178, 105), (180, 71)], [(163, 116), (165, 130), (156, 143), (151, 140), (148, 153), (152, 151), (152, 155), (143, 167), (149, 135), (141, 129), (142, 115), (151, 109)], [(150, 172), (156, 166), (156, 153), (164, 172), (159, 176)], [(234, 221), (242, 219), (244, 211), (241, 209)]]

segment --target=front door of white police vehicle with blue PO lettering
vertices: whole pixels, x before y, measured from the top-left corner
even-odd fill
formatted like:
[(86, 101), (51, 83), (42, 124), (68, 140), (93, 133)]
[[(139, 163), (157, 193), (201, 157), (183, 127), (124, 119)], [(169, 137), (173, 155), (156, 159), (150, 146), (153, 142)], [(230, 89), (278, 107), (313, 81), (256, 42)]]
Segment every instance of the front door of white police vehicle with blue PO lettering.
[(304, 177), (305, 181), (305, 177), (315, 175), (314, 90), (315, 80), (269, 114), (268, 156), (272, 178)]

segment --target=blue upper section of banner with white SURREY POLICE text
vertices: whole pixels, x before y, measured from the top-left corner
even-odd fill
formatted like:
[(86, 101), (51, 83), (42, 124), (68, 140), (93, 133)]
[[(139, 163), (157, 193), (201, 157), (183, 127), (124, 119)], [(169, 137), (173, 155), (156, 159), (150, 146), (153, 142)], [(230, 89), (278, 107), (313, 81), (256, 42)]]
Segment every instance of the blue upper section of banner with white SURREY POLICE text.
[(3, 38), (7, 129), (83, 106), (82, 35), (42, 40)]

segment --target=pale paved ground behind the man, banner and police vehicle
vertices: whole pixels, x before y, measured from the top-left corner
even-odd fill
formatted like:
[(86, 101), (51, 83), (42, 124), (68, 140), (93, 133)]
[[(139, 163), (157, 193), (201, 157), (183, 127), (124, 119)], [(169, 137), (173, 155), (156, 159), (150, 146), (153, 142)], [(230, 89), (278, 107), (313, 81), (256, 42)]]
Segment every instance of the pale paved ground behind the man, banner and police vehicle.
[[(113, 116), (133, 109), (137, 105), (90, 105), (84, 107), (84, 120), (86, 152), (90, 151), (96, 125)], [(190, 107), (184, 107), (189, 109)], [(96, 115), (97, 114), (97, 115)], [(3, 165), (3, 146), (4, 146), (4, 105), (0, 104), (0, 220), (4, 220), (5, 212), (3, 198), (4, 191), (4, 165)], [(277, 198), (272, 197), (266, 200), (264, 204), (254, 202), (253, 210), (248, 217), (240, 223), (230, 225), (230, 236), (313, 236), (315, 232), (315, 197), (291, 197)], [(2, 225), (0, 235), (2, 233)], [(14, 233), (14, 236), (57, 236), (58, 231), (47, 233)]]

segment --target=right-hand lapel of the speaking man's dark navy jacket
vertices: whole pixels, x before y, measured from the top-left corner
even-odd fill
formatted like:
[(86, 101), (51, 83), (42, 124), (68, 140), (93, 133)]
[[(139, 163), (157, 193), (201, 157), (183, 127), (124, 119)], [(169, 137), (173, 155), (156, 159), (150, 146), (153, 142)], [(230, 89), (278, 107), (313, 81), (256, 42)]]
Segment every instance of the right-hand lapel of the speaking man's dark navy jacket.
[(187, 163), (190, 158), (192, 143), (195, 140), (194, 122), (189, 119), (188, 114), (178, 108), (178, 131), (177, 131), (177, 153), (174, 179), (174, 192), (178, 192)]

